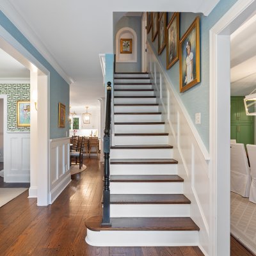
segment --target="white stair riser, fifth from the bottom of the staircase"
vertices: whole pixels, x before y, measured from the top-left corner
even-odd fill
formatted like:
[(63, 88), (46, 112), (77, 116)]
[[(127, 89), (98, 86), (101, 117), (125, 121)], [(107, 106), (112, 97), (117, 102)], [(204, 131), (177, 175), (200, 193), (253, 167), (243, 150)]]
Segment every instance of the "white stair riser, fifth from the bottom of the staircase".
[(170, 159), (172, 148), (121, 149), (111, 148), (110, 159)]

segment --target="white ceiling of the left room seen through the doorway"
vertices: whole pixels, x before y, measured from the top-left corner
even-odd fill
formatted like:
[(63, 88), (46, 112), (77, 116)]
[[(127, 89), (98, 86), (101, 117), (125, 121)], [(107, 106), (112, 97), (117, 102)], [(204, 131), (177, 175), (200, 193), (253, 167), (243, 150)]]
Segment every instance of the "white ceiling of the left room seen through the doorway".
[(29, 79), (30, 72), (19, 61), (7, 54), (0, 48), (0, 77), (1, 79), (26, 78)]

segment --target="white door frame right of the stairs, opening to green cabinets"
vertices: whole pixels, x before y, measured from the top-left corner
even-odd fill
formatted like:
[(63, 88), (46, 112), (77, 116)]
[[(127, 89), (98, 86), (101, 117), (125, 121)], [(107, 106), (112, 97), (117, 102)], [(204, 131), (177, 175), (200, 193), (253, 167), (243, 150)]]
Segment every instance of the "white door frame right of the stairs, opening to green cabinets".
[(255, 10), (238, 0), (210, 30), (211, 256), (230, 255), (230, 35)]

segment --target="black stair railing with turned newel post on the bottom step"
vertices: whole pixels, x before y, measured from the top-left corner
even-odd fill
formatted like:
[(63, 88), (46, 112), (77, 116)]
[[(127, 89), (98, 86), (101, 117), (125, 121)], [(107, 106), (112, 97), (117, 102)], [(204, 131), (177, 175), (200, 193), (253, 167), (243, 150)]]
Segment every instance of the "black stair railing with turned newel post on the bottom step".
[(106, 121), (103, 138), (104, 150), (104, 188), (103, 188), (103, 217), (102, 225), (111, 225), (110, 223), (110, 189), (109, 189), (109, 152), (111, 142), (111, 82), (107, 83), (107, 100), (106, 100)]

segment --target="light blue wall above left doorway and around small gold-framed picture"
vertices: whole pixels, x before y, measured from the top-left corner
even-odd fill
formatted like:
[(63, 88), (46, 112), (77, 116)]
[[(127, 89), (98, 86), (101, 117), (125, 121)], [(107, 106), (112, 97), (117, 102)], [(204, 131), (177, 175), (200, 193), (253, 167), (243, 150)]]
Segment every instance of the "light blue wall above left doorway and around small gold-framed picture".
[[(68, 132), (68, 112), (69, 112), (69, 85), (54, 70), (51, 64), (36, 50), (28, 39), (20, 33), (12, 22), (0, 11), (0, 25), (3, 26), (10, 35), (12, 35), (27, 51), (29, 51), (36, 60), (40, 61), (50, 72), (50, 138), (63, 138)], [(58, 128), (58, 103), (66, 106), (66, 127)], [(68, 134), (68, 133), (67, 133)]]

